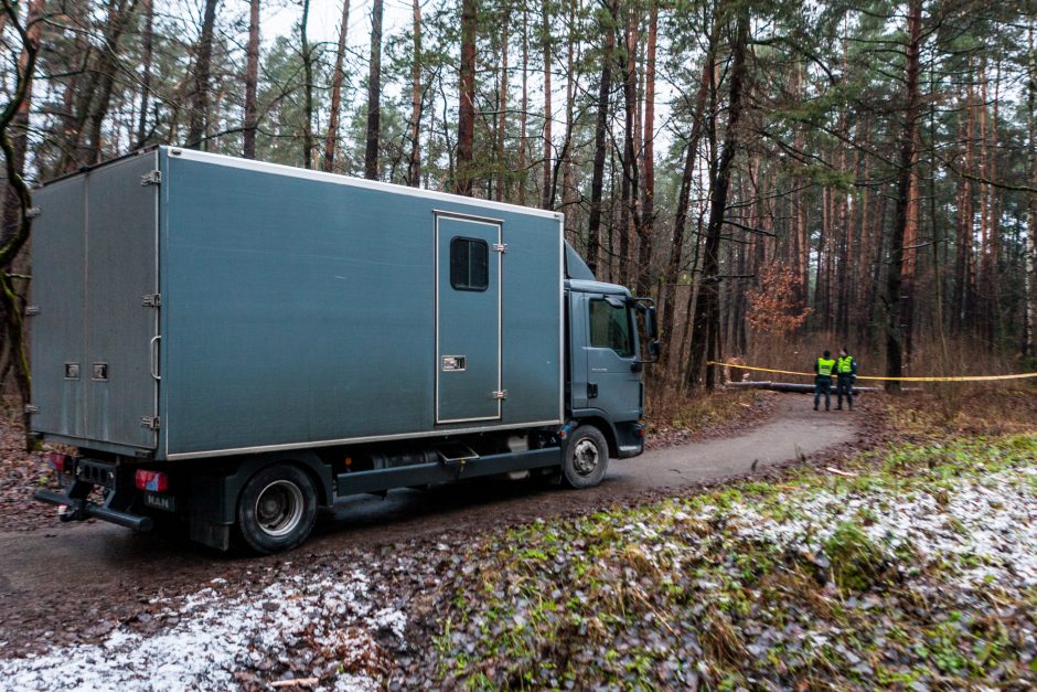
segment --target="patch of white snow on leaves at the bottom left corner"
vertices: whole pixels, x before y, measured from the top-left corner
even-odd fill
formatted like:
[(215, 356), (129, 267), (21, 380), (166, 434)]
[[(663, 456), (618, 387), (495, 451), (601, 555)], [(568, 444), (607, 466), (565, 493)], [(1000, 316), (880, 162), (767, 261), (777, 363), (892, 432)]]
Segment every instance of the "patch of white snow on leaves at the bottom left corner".
[[(221, 581), (222, 582), (222, 581)], [(177, 625), (157, 635), (125, 629), (99, 645), (55, 647), (19, 659), (0, 658), (2, 690), (226, 690), (234, 674), (275, 658), (299, 641), (306, 627), (341, 631), (346, 627), (371, 634), (387, 630), (403, 639), (406, 616), (395, 608), (373, 610), (370, 582), (361, 572), (343, 581), (307, 582), (293, 577), (259, 594), (222, 596), (203, 588), (184, 598)], [(164, 599), (163, 599), (164, 600)], [(341, 673), (335, 690), (377, 690), (381, 683), (356, 673)]]

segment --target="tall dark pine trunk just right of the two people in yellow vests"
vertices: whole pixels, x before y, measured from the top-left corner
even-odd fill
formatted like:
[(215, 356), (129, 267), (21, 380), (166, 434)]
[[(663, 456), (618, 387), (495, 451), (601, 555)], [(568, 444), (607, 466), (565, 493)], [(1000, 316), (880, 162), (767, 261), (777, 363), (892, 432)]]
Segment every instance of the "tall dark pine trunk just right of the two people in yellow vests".
[[(905, 114), (900, 132), (900, 162), (889, 260), (886, 275), (886, 376), (904, 374), (904, 328), (901, 321), (904, 236), (908, 225), (911, 177), (917, 166), (917, 131), (920, 102), (918, 97), (919, 53), (922, 35), (922, 0), (908, 3), (908, 44), (905, 67)], [(886, 383), (887, 392), (899, 392), (900, 382)]]

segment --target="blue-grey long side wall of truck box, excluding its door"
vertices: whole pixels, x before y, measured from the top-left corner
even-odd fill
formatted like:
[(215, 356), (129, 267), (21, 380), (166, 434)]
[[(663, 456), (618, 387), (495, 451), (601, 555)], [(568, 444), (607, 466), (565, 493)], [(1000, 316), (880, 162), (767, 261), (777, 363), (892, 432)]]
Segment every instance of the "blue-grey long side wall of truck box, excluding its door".
[[(560, 216), (162, 152), (160, 455), (560, 422)], [(437, 211), (500, 219), (505, 228), (507, 398), (493, 419), (436, 425)]]

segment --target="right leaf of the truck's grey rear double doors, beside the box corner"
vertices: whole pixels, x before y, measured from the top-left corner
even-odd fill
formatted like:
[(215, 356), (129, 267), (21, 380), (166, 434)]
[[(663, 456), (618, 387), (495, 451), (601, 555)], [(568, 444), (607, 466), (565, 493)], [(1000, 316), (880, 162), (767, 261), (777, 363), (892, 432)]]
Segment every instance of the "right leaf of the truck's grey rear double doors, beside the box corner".
[(86, 351), (83, 386), (88, 439), (152, 449), (157, 415), (158, 185), (157, 152), (87, 174)]

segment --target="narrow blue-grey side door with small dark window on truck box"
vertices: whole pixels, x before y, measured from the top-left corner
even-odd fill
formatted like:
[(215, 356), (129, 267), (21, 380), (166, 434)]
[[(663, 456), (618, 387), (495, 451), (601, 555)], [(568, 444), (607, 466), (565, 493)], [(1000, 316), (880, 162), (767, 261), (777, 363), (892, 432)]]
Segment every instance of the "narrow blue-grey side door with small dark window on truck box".
[(502, 222), (436, 213), (436, 423), (499, 420)]

